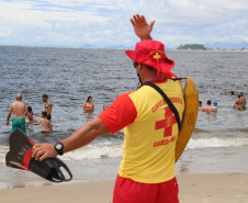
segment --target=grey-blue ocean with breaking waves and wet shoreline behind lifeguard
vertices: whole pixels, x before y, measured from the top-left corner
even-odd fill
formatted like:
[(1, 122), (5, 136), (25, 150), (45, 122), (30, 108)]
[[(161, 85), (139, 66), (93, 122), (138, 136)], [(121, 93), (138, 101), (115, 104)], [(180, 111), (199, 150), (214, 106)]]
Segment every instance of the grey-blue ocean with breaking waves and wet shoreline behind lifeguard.
[[(206, 100), (218, 103), (217, 113), (199, 112), (192, 138), (177, 162), (176, 172), (247, 172), (248, 111), (233, 109), (237, 95), (230, 95), (230, 91), (248, 95), (248, 53), (166, 53), (176, 63), (177, 76), (190, 76), (194, 80), (203, 105)], [(110, 105), (117, 95), (135, 90), (137, 84), (135, 69), (124, 50), (0, 46), (0, 188), (13, 182), (44, 181), (4, 163), (11, 132), (11, 125), (5, 126), (5, 117), (16, 93), (22, 93), (23, 101), (40, 114), (44, 109), (42, 94), (48, 94), (55, 132), (42, 135), (41, 126), (29, 125), (27, 135), (35, 143), (56, 143), (89, 121), (82, 111), (88, 95), (93, 98), (95, 117), (104, 104)], [(74, 181), (114, 179), (122, 159), (122, 145), (123, 131), (100, 136), (60, 158), (71, 169)]]

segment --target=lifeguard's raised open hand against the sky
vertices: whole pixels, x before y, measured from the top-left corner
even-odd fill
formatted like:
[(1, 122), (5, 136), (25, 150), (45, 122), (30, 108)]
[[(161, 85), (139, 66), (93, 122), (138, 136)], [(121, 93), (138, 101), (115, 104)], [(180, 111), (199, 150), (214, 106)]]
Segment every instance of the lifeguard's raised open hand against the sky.
[(153, 40), (150, 33), (154, 27), (155, 20), (148, 24), (144, 15), (133, 15), (131, 23), (134, 26), (135, 34), (140, 38), (140, 41)]

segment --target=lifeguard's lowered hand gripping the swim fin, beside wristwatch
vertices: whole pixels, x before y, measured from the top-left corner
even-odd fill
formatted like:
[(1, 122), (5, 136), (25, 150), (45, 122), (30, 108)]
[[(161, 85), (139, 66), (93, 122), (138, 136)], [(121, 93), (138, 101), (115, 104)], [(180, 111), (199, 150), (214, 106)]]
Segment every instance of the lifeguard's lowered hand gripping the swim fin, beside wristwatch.
[(54, 149), (54, 145), (48, 143), (36, 144), (33, 146), (33, 155), (32, 157), (35, 160), (44, 160), (46, 158), (54, 158), (58, 155), (58, 153)]

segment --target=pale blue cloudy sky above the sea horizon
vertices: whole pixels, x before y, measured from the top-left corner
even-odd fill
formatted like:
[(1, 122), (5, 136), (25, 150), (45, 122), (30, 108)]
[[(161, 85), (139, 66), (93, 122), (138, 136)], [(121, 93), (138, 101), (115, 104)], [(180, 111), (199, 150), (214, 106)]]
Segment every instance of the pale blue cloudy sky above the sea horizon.
[(248, 42), (247, 0), (0, 0), (0, 45), (134, 46), (136, 13), (166, 47)]

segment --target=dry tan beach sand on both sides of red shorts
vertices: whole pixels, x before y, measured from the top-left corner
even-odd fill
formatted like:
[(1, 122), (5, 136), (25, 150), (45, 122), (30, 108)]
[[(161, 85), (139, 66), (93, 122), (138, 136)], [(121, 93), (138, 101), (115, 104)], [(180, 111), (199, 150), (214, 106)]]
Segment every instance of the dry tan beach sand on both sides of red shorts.
[[(180, 203), (248, 203), (248, 173), (178, 174)], [(3, 203), (111, 203), (114, 181), (0, 190)]]

